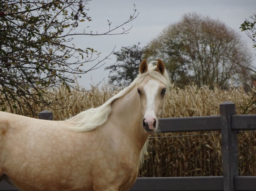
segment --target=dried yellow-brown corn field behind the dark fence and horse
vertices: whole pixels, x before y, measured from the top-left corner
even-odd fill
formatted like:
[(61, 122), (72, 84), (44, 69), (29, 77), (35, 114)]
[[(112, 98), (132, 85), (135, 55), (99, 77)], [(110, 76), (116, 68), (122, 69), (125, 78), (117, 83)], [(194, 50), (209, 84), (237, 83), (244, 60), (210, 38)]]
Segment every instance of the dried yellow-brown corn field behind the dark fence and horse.
[[(85, 109), (98, 107), (116, 94), (105, 86), (89, 92), (55, 89), (48, 93), (48, 99), (56, 99), (59, 104), (54, 108), (33, 107), (40, 112), (51, 110), (54, 120), (71, 117)], [(162, 117), (186, 117), (219, 115), (219, 104), (232, 101), (236, 104), (237, 114), (243, 112), (251, 96), (242, 88), (223, 91), (208, 87), (187, 86), (184, 89), (170, 89), (165, 101)], [(255, 114), (251, 105), (250, 114)], [(10, 109), (6, 108), (7, 112)], [(18, 111), (17, 111), (18, 112)], [(23, 111), (23, 113), (26, 113)], [(242, 176), (256, 176), (256, 132), (239, 132), (239, 170)], [(149, 138), (148, 154), (141, 167), (141, 177), (164, 176), (218, 176), (222, 175), (221, 135), (220, 132), (163, 133)]]

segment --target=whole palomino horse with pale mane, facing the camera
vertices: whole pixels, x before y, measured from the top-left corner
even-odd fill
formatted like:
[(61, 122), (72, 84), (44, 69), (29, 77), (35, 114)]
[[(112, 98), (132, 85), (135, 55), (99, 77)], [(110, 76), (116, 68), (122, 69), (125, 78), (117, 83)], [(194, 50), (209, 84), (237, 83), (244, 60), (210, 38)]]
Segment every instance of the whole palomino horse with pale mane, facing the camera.
[(155, 63), (143, 60), (129, 87), (65, 121), (0, 112), (0, 180), (24, 191), (129, 190), (169, 87)]

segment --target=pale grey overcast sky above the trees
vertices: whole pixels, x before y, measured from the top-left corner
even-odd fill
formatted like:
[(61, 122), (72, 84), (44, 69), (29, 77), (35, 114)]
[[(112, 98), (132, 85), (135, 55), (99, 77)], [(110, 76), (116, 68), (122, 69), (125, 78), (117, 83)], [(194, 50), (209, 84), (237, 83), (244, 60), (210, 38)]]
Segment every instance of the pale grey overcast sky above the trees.
[[(108, 21), (111, 26), (124, 23), (133, 13), (134, 5), (139, 13), (138, 17), (127, 24), (124, 28), (132, 26), (129, 34), (114, 36), (84, 36), (74, 39), (73, 43), (78, 48), (94, 48), (101, 52), (99, 59), (105, 58), (115, 48), (119, 51), (122, 46), (132, 46), (140, 42), (143, 47), (168, 25), (178, 22), (183, 14), (196, 12), (203, 16), (210, 16), (213, 19), (219, 19), (228, 27), (241, 34), (242, 39), (252, 46), (252, 42), (239, 29), (244, 20), (256, 13), (255, 0), (92, 0), (87, 5), (88, 16), (92, 18), (91, 22), (83, 22), (77, 31), (88, 27), (86, 31), (106, 32), (108, 30)], [(256, 53), (255, 50), (251, 49)], [(106, 66), (116, 62), (115, 55), (110, 56), (106, 64), (87, 74), (82, 75), (79, 84), (85, 88), (90, 88), (90, 84), (97, 84), (105, 78), (108, 81), (109, 71), (104, 70)], [(94, 63), (91, 63), (94, 64)], [(96, 64), (96, 63), (95, 63)]]

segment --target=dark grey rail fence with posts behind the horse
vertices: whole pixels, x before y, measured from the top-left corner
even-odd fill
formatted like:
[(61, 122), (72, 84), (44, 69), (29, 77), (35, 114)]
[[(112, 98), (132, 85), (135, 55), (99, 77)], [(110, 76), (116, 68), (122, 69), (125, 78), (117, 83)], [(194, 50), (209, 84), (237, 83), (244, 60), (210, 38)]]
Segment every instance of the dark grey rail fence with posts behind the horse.
[[(43, 114), (44, 113), (44, 114)], [(52, 113), (39, 114), (52, 120)], [(151, 177), (138, 178), (130, 191), (255, 191), (256, 176), (239, 176), (239, 130), (256, 130), (256, 115), (236, 115), (235, 104), (220, 104), (220, 115), (200, 117), (174, 117), (159, 120), (161, 132), (221, 131), (223, 176), (204, 177)], [(15, 190), (4, 181), (0, 190)]]

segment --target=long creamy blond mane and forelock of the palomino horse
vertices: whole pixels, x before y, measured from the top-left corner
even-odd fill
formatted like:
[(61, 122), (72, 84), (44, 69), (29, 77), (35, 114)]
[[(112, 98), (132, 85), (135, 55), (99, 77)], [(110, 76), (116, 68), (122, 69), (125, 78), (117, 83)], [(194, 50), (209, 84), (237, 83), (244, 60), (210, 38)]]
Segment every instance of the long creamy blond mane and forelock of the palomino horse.
[(72, 123), (72, 125), (69, 125), (67, 128), (77, 132), (87, 132), (100, 127), (102, 124), (104, 124), (108, 120), (108, 116), (112, 111), (111, 104), (116, 99), (131, 92), (133, 88), (136, 87), (144, 79), (146, 75), (150, 75), (153, 78), (164, 83), (166, 85), (167, 92), (169, 92), (168, 90), (170, 86), (170, 81), (169, 81), (168, 72), (166, 72), (165, 70), (164, 75), (160, 74), (159, 72), (156, 71), (155, 64), (156, 64), (156, 61), (150, 62), (150, 64), (148, 65), (147, 72), (143, 74), (139, 74), (137, 78), (130, 84), (130, 86), (123, 89), (118, 94), (114, 95), (103, 105), (96, 108), (91, 108), (91, 109), (82, 111), (81, 113), (75, 115), (74, 117), (67, 119), (66, 121)]

